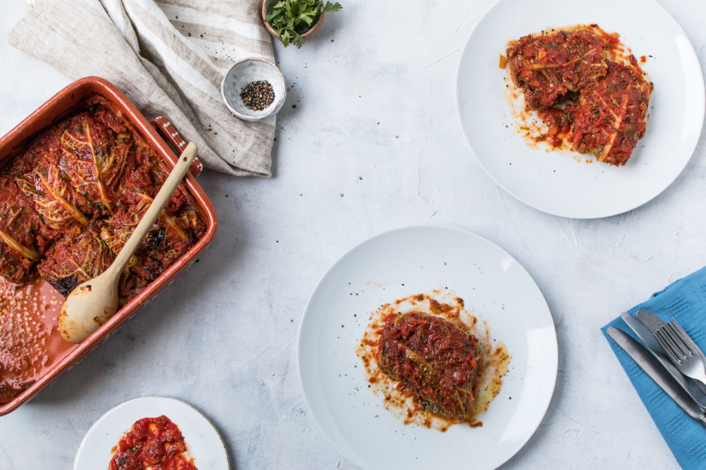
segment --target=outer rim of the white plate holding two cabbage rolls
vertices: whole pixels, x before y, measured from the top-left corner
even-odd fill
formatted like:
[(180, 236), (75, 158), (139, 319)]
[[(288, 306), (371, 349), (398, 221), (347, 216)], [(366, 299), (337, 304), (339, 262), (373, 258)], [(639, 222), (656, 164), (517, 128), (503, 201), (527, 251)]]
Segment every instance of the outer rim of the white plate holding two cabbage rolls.
[[(474, 158), (476, 159), (476, 161), (477, 161), (477, 163), (479, 164), (479, 166), (480, 166), (481, 168), (483, 168), (483, 171), (486, 173), (486, 175), (488, 175), (488, 176), (491, 178), (491, 180), (493, 180), (493, 183), (496, 183), (496, 185), (500, 186), (500, 187), (503, 189), (503, 191), (507, 192), (508, 194), (510, 194), (510, 196), (512, 196), (512, 197), (514, 197), (515, 199), (517, 199), (518, 201), (522, 202), (522, 204), (526, 204), (527, 206), (530, 206), (530, 207), (532, 207), (533, 209), (537, 209), (538, 211), (542, 211), (542, 212), (544, 212), (544, 213), (546, 213), (546, 214), (551, 214), (551, 215), (553, 215), (553, 216), (566, 217), (566, 218), (593, 219), (593, 218), (607, 218), (607, 217), (611, 217), (611, 216), (617, 216), (618, 214), (624, 214), (625, 212), (631, 211), (631, 210), (633, 210), (633, 209), (637, 209), (638, 207), (640, 207), (640, 206), (642, 206), (642, 205), (644, 205), (644, 204), (647, 204), (647, 202), (652, 201), (652, 199), (654, 199), (655, 197), (659, 196), (659, 194), (662, 194), (662, 192), (664, 192), (664, 190), (666, 190), (666, 188), (668, 188), (669, 186), (671, 186), (672, 183), (674, 183), (674, 181), (676, 180), (676, 178), (678, 178), (678, 176), (681, 175), (681, 173), (683, 172), (684, 168), (686, 168), (686, 166), (688, 165), (689, 161), (691, 160), (691, 157), (692, 157), (693, 154), (694, 154), (694, 151), (695, 151), (696, 147), (698, 147), (698, 142), (699, 142), (699, 139), (700, 139), (700, 134), (699, 134), (699, 135), (695, 135), (695, 137), (693, 138), (693, 142), (692, 142), (692, 143), (690, 144), (690, 146), (689, 146), (689, 147), (690, 147), (690, 153), (689, 153), (688, 159), (686, 159), (686, 160), (684, 161), (683, 166), (682, 166), (682, 167), (679, 169), (679, 171), (674, 175), (674, 178), (672, 178), (672, 179), (669, 181), (669, 183), (667, 183), (661, 190), (659, 190), (658, 192), (656, 192), (656, 193), (650, 195), (649, 197), (647, 197), (647, 199), (643, 200), (642, 202), (640, 202), (640, 203), (637, 204), (636, 206), (633, 206), (633, 207), (630, 207), (630, 208), (620, 208), (620, 209), (618, 209), (618, 210), (616, 210), (616, 211), (606, 211), (604, 214), (582, 214), (582, 215), (578, 215), (578, 216), (573, 216), (573, 215), (570, 215), (570, 214), (561, 213), (561, 211), (554, 211), (554, 210), (543, 209), (542, 207), (537, 206), (537, 204), (532, 204), (532, 203), (530, 203), (530, 202), (527, 202), (527, 200), (525, 200), (526, 198), (518, 196), (518, 195), (516, 194), (516, 192), (510, 190), (510, 188), (508, 188), (507, 185), (504, 185), (503, 183), (501, 183), (501, 182), (498, 180), (498, 178), (496, 177), (496, 175), (494, 175), (491, 171), (489, 171), (489, 168), (488, 168), (488, 167), (484, 164), (484, 162), (479, 158), (479, 156), (478, 156), (478, 154), (477, 154), (477, 150), (474, 148), (474, 145), (472, 144), (471, 137), (468, 135), (468, 132), (466, 132), (466, 129), (465, 129), (465, 127), (464, 127), (464, 125), (463, 125), (463, 122), (462, 122), (462, 120), (461, 120), (461, 109), (460, 109), (461, 103), (460, 103), (459, 83), (460, 83), (460, 79), (461, 79), (462, 60), (463, 60), (463, 58), (464, 58), (464, 56), (465, 56), (465, 54), (466, 54), (467, 49), (470, 47), (471, 39), (472, 39), (472, 38), (474, 37), (474, 35), (476, 35), (477, 32), (478, 32), (478, 27), (479, 27), (479, 25), (480, 25), (481, 23), (483, 23), (483, 21), (486, 19), (486, 17), (489, 16), (489, 14), (491, 14), (493, 11), (495, 11), (501, 4), (503, 4), (503, 3), (505, 3), (505, 2), (508, 2), (508, 1), (513, 1), (513, 0), (498, 0), (498, 1), (496, 1), (496, 2), (493, 3), (493, 4), (490, 6), (490, 8), (488, 8), (488, 9), (485, 11), (485, 13), (483, 13), (483, 15), (476, 21), (476, 23), (473, 25), (473, 27), (472, 27), (472, 29), (471, 29), (470, 34), (468, 35), (468, 37), (467, 37), (467, 39), (466, 39), (466, 43), (465, 43), (465, 45), (464, 45), (464, 47), (463, 47), (463, 49), (462, 49), (462, 51), (461, 51), (460, 60), (458, 61), (457, 68), (456, 68), (456, 84), (455, 84), (455, 85), (456, 85), (456, 86), (455, 86), (456, 97), (455, 97), (455, 102), (456, 102), (456, 118), (457, 118), (457, 122), (458, 122), (459, 127), (461, 128), (461, 133), (462, 133), (462, 135), (463, 135), (463, 137), (464, 137), (464, 139), (465, 139), (465, 141), (466, 141), (466, 144), (468, 145), (468, 147), (469, 147), (471, 153), (473, 154), (473, 156), (474, 156)], [(669, 13), (669, 11), (667, 11), (666, 8), (664, 8), (664, 6), (662, 6), (661, 4), (659, 4), (659, 2), (657, 2), (657, 0), (647, 0), (647, 1), (650, 1), (652, 4), (654, 4), (654, 6), (657, 6), (657, 8), (659, 8), (659, 9), (662, 11), (662, 13), (664, 13), (666, 16), (668, 16), (669, 18), (671, 18), (671, 20), (674, 21), (674, 25), (676, 25), (678, 31), (681, 32), (681, 35), (683, 35), (683, 37), (686, 37), (686, 38), (688, 39), (688, 36), (686, 35), (686, 32), (684, 32), (683, 28), (682, 28), (681, 25), (678, 23), (678, 21), (676, 20), (676, 18), (674, 18), (674, 16), (671, 16), (671, 13)], [(695, 49), (694, 49), (694, 45), (692, 44), (692, 42), (691, 42), (690, 40), (688, 40), (688, 47), (689, 47), (689, 58), (690, 58), (690, 59), (693, 59), (693, 61), (695, 61), (695, 63), (697, 63), (698, 65), (700, 65), (698, 55), (696, 54), (696, 51), (695, 51)], [(706, 101), (705, 101), (705, 100), (706, 100), (706, 83), (705, 83), (705, 81), (704, 81), (703, 75), (702, 75), (702, 74), (699, 74), (699, 75), (700, 75), (700, 80), (701, 80), (701, 81), (700, 81), (700, 85), (701, 85), (701, 86), (699, 87), (700, 96), (697, 97), (697, 98), (699, 98), (699, 99), (697, 99), (697, 100), (695, 100), (695, 101), (698, 101), (698, 103), (700, 104), (700, 123), (701, 123), (701, 128), (703, 129), (704, 119), (705, 119), (705, 117), (706, 117)]]

